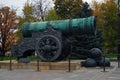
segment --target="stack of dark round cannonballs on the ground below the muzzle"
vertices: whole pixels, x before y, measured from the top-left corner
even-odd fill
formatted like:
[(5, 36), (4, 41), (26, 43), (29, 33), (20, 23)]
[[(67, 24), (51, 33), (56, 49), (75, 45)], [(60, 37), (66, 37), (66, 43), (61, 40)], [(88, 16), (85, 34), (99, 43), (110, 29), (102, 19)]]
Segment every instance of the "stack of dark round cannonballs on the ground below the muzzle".
[(98, 48), (92, 48), (90, 50), (90, 58), (82, 62), (82, 66), (85, 67), (110, 67), (110, 60), (108, 58), (105, 58), (102, 51)]

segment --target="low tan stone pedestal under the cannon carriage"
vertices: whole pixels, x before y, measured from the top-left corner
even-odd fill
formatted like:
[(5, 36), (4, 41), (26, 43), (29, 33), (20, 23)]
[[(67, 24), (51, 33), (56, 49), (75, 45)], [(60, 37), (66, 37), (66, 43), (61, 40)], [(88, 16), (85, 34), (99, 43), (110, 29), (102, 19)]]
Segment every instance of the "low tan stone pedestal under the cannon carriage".
[[(79, 70), (80, 60), (71, 61), (71, 70)], [(9, 69), (9, 61), (0, 61), (0, 69)], [(69, 63), (68, 61), (60, 62), (39, 62), (40, 70), (68, 70)], [(37, 69), (37, 62), (31, 61), (30, 63), (18, 63), (17, 61), (12, 60), (12, 69)]]

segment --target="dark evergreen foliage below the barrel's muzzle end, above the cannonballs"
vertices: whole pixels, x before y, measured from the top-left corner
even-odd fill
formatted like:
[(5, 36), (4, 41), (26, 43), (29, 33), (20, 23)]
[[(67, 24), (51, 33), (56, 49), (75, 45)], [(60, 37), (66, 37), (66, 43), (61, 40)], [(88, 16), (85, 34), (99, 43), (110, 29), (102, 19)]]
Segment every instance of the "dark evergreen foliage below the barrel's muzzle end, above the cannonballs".
[(75, 49), (74, 51), (76, 53), (79, 53), (81, 55), (87, 55), (89, 56), (89, 50), (92, 48), (99, 48), (102, 49), (102, 31), (97, 30), (96, 35), (81, 35), (76, 36), (75, 40), (77, 42), (74, 45)]

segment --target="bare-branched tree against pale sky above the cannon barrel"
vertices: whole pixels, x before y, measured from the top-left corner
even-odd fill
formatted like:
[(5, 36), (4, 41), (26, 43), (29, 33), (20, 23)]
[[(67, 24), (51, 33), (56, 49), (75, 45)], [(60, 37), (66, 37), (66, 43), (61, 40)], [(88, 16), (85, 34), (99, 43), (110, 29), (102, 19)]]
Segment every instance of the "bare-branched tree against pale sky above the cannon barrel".
[(34, 4), (34, 17), (41, 21), (45, 21), (45, 15), (51, 8), (51, 2), (48, 0), (35, 0)]

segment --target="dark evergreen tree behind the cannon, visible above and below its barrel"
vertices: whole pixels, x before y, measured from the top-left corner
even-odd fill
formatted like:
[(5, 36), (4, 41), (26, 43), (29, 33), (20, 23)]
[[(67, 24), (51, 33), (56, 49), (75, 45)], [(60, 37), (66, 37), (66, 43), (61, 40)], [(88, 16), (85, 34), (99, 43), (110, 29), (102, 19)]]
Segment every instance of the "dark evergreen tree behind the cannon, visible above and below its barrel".
[[(86, 18), (93, 15), (93, 10), (89, 7), (87, 2), (82, 4), (82, 9), (79, 10), (74, 18)], [(95, 35), (76, 35), (75, 40), (77, 43), (73, 44), (74, 52), (80, 55), (87, 55), (89, 57), (89, 50), (92, 48), (102, 49), (102, 30), (96, 30)]]

